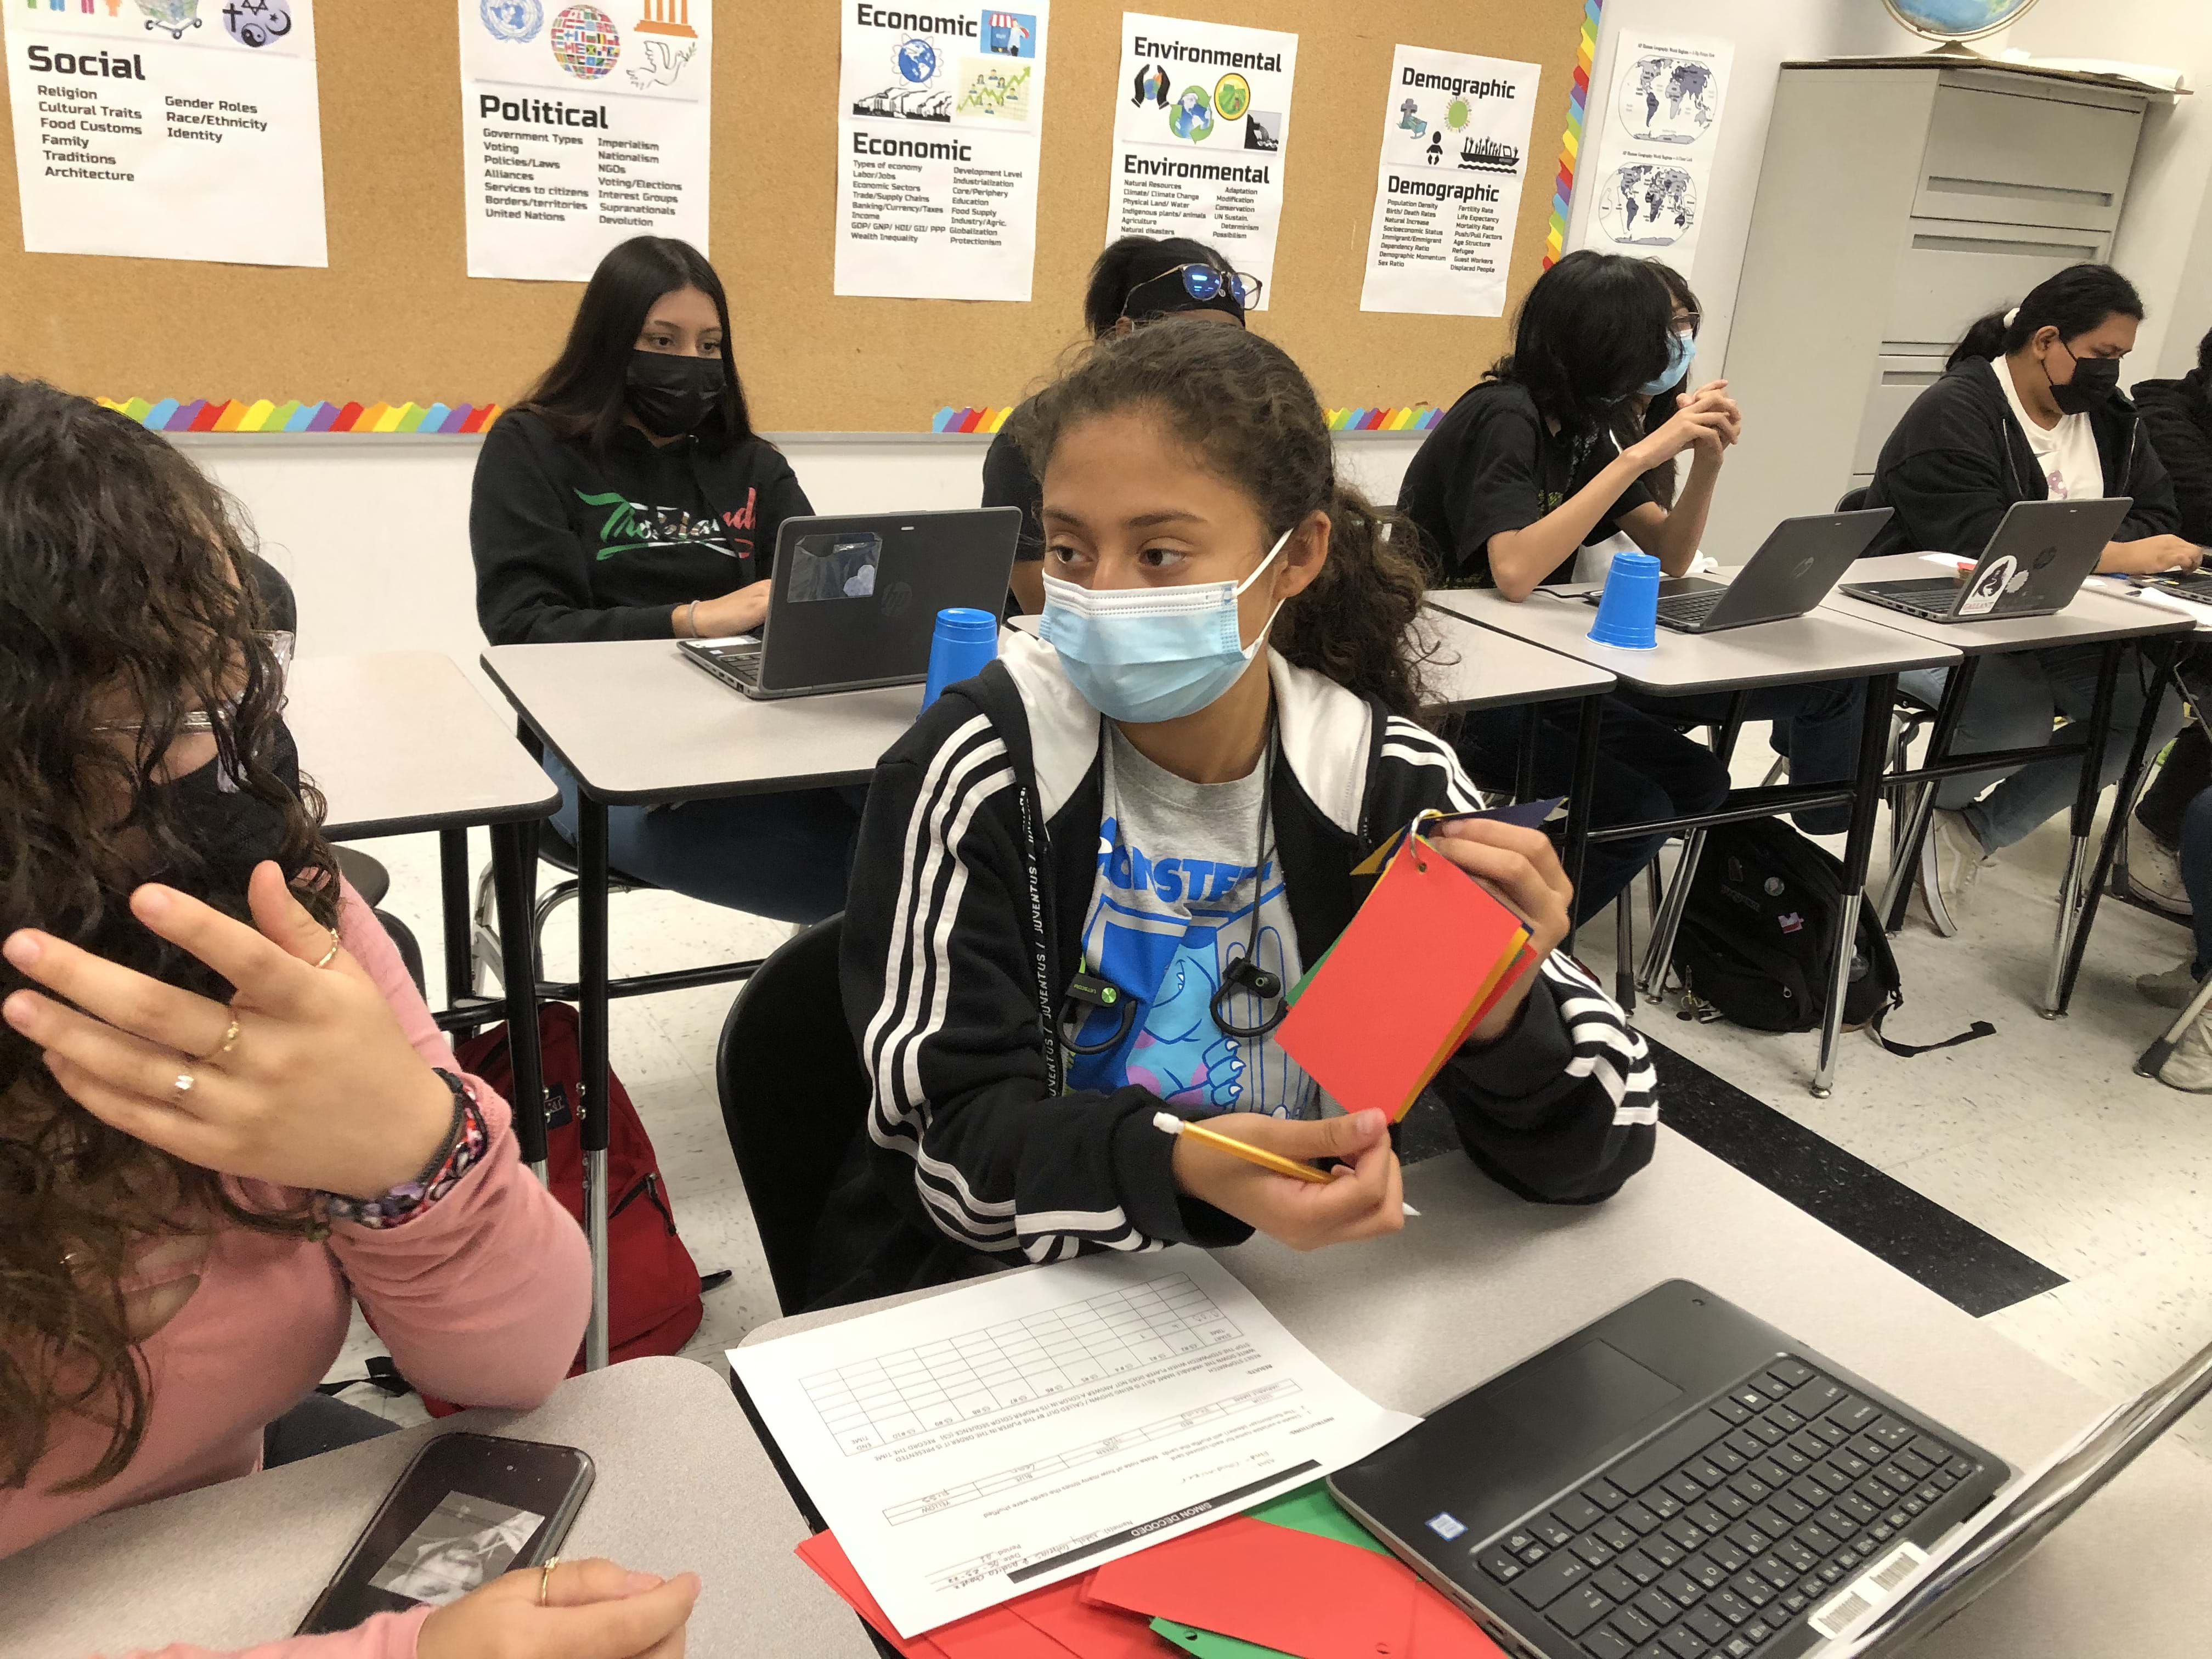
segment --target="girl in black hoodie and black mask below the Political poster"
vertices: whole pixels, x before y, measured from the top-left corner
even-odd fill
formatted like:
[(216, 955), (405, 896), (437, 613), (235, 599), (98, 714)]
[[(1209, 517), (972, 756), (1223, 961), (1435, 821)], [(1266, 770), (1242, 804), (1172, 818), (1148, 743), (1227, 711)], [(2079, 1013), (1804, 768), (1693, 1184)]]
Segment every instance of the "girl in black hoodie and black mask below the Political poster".
[[(560, 358), (484, 436), (476, 615), (495, 646), (745, 633), (768, 615), (776, 526), (805, 513), (790, 462), (752, 431), (714, 268), (633, 237), (599, 261)], [(575, 779), (542, 763), (575, 841)], [(792, 790), (611, 807), (606, 847), (615, 869), (710, 905), (818, 922), (845, 905), (858, 823), (858, 792)]]

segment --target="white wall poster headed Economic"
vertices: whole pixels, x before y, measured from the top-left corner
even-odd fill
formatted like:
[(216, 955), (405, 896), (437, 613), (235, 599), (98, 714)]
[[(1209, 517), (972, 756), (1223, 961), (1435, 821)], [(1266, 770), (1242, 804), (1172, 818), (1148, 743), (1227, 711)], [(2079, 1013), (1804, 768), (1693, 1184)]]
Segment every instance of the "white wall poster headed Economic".
[(1048, 7), (845, 7), (838, 294), (1029, 299)]

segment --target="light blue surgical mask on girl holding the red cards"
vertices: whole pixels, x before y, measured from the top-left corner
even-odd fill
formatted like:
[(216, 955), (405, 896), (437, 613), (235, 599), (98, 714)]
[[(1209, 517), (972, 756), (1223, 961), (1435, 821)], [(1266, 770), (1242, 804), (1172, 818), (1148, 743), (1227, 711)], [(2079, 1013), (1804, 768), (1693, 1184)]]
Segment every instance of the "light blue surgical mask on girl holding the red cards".
[(1248, 646), (1237, 626), (1237, 597), (1259, 582), (1287, 540), (1283, 531), (1243, 582), (1095, 593), (1046, 575), (1037, 637), (1060, 653), (1068, 684), (1106, 719), (1148, 726), (1197, 714), (1237, 684), (1267, 639), (1274, 611)]

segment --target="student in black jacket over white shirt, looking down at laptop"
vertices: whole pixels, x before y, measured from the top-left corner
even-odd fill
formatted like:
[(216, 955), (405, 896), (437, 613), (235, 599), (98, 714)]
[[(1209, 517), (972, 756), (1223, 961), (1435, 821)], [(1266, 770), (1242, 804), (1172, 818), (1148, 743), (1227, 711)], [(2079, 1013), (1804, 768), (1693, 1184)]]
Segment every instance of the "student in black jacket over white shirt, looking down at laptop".
[[(2013, 310), (1975, 323), (1942, 380), (1913, 400), (1882, 445), (1867, 507), (1891, 507), (1896, 518), (1869, 555), (1973, 557), (2013, 502), (2128, 495), (2135, 504), (2097, 568), (2194, 568), (2197, 544), (2174, 535), (2181, 518), (2166, 467), (2135, 405), (2117, 392), (2141, 316), (2141, 299), (2117, 270), (2068, 265)], [(2031, 748), (2051, 741), (2055, 712), (2086, 719), (2099, 650), (2055, 646), (1986, 657), (1975, 668), (1955, 752)], [(1900, 684), (1933, 703), (1944, 672), (1924, 668)], [(2115, 688), (2104, 783), (2119, 779), (2141, 719), (2141, 659), (2130, 655)], [(2166, 699), (2152, 748), (2179, 723), (2181, 710)], [(1920, 865), (1920, 896), (1938, 933), (1958, 931), (1982, 865), (2062, 812), (2077, 779), (2079, 761), (2064, 757), (2011, 776), (1978, 772), (1938, 785)]]

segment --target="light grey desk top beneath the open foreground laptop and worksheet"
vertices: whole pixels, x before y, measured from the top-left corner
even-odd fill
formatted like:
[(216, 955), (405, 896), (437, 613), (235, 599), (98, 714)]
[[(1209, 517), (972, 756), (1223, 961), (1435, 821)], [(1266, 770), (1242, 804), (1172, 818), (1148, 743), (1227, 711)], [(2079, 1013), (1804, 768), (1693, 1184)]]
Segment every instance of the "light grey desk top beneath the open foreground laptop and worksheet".
[[(2110, 1405), (1663, 1126), (1652, 1166), (1595, 1208), (1522, 1203), (1458, 1155), (1409, 1168), (1405, 1194), (1420, 1217), (1389, 1239), (1217, 1252), (1325, 1365), (1400, 1411), (1433, 1411), (1666, 1279), (1741, 1303), (2015, 1471)], [(745, 1347), (900, 1301), (783, 1318)], [(2185, 1586), (2208, 1575), (2212, 1464), (2152, 1447), (1913, 1659), (2203, 1659)]]

